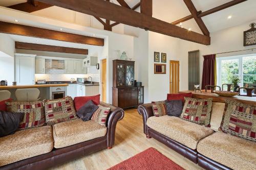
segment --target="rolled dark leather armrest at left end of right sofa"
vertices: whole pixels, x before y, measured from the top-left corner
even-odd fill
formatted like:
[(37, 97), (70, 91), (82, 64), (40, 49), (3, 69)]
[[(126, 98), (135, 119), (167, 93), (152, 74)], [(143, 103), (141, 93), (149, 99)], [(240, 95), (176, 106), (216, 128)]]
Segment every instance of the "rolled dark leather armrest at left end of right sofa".
[(152, 104), (143, 104), (138, 107), (138, 112), (143, 117), (143, 131), (148, 136), (148, 127), (146, 126), (146, 121), (148, 117), (154, 116)]

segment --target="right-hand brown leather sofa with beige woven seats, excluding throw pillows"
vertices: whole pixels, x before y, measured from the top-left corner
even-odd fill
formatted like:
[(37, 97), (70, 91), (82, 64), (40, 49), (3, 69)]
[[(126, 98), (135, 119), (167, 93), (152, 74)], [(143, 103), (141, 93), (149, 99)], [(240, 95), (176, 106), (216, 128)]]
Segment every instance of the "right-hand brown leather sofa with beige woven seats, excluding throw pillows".
[(138, 112), (147, 138), (153, 137), (205, 169), (256, 169), (256, 143), (218, 131), (224, 107), (224, 103), (212, 104), (211, 128), (179, 117), (156, 117), (151, 104), (140, 105)]

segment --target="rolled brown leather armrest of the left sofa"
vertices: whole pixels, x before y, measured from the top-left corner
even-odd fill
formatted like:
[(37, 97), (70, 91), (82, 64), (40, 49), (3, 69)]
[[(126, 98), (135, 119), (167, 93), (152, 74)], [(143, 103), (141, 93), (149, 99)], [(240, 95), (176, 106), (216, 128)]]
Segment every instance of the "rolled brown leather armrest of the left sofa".
[(100, 105), (111, 108), (108, 119), (106, 120), (106, 127), (108, 128), (106, 136), (108, 148), (112, 148), (115, 143), (116, 124), (124, 117), (124, 111), (121, 108), (112, 106), (104, 102), (100, 102)]

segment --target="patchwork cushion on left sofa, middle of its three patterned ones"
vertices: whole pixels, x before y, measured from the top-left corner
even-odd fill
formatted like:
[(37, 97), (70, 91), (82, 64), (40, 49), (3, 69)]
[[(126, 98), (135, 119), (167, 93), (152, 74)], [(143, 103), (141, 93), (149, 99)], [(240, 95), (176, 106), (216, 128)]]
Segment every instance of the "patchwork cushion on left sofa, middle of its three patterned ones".
[(47, 125), (54, 125), (78, 118), (70, 96), (62, 99), (44, 100), (44, 102)]

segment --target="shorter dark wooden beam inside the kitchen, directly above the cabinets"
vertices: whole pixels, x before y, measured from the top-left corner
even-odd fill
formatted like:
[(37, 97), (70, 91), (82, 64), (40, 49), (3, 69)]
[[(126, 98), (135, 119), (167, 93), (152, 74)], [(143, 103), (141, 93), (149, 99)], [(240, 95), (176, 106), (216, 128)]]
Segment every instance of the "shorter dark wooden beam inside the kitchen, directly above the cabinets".
[(44, 51), (44, 52), (88, 55), (88, 49), (71, 48), (71, 47), (54, 46), (54, 45), (44, 45), (44, 44), (34, 44), (34, 43), (16, 42), (16, 41), (15, 41), (15, 48), (24, 49), (24, 50)]

